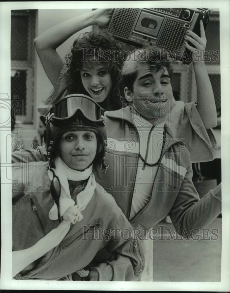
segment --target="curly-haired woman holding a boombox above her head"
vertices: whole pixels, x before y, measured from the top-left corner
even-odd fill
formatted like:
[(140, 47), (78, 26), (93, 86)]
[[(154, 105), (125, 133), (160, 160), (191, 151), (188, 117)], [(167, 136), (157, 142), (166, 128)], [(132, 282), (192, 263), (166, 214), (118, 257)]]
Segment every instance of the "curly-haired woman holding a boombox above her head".
[[(93, 29), (80, 34), (65, 62), (59, 56), (57, 48), (70, 36), (80, 30), (96, 25), (108, 27), (113, 9), (95, 9), (82, 15), (58, 23), (38, 35), (34, 40), (35, 49), (45, 73), (54, 86), (50, 96), (39, 105), (41, 115), (47, 114), (48, 107), (57, 103), (61, 97), (71, 93), (90, 95), (105, 110), (121, 108), (120, 96), (123, 96), (122, 66), (127, 48), (119, 44), (106, 30)], [(211, 161), (220, 158), (216, 139), (211, 128), (217, 125), (217, 111), (212, 85), (204, 62), (206, 47), (205, 29), (200, 22), (200, 37), (191, 30), (186, 31), (185, 47), (192, 52), (193, 69), (197, 86), (197, 103), (184, 103), (173, 98), (170, 124), (175, 138), (189, 141), (189, 151), (193, 163)], [(190, 45), (189, 45), (190, 44)], [(154, 46), (152, 46), (154, 50)], [(136, 59), (139, 59), (137, 52)], [(96, 62), (95, 62), (96, 61)], [(185, 88), (187, 84), (183, 84)], [(36, 152), (35, 152), (36, 153)], [(36, 153), (36, 160), (42, 160), (42, 153)], [(14, 152), (13, 161), (20, 160)]]

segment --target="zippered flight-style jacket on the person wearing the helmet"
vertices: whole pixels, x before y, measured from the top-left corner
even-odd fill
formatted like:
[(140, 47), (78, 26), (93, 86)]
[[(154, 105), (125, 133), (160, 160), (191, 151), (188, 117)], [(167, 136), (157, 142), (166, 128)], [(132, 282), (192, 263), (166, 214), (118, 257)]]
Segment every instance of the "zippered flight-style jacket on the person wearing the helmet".
[[(17, 182), (12, 184), (13, 251), (33, 246), (59, 225), (58, 220), (48, 217), (54, 202), (47, 167), (44, 162), (14, 164), (12, 167), (12, 178)], [(98, 271), (102, 281), (138, 280), (143, 270), (142, 248), (132, 237), (132, 226), (113, 197), (99, 184), (82, 215), (83, 219), (71, 224), (58, 246), (14, 278), (59, 280), (90, 265)], [(122, 229), (126, 231), (124, 237)], [(116, 230), (117, 234), (114, 234)], [(98, 251), (101, 254), (97, 255)], [(103, 260), (105, 254), (113, 252), (115, 259)]]

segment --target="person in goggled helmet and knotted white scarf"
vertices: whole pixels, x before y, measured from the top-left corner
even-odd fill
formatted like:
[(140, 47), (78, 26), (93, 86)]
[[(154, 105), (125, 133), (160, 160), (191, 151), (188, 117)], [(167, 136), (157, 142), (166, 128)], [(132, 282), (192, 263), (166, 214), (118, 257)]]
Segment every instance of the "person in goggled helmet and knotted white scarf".
[(46, 117), (48, 162), (13, 165), (15, 279), (138, 280), (144, 261), (139, 242), (93, 174), (108, 168), (103, 115), (90, 97), (63, 98)]

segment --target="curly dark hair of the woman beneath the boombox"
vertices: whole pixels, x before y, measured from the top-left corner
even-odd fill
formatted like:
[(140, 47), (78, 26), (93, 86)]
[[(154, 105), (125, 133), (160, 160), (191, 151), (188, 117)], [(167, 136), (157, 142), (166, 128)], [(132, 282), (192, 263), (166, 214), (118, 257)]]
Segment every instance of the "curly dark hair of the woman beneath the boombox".
[[(94, 30), (92, 32), (79, 35), (71, 47), (71, 53), (66, 55), (66, 64), (69, 67), (70, 75), (73, 81), (80, 78), (80, 69), (83, 67), (84, 61), (89, 61), (88, 66), (91, 67), (87, 56), (98, 60), (100, 64), (108, 69), (113, 80), (113, 98), (120, 96), (121, 70), (123, 66), (120, 52), (122, 50), (121, 43), (117, 42), (113, 36), (106, 30)], [(118, 52), (118, 53), (116, 53)]]

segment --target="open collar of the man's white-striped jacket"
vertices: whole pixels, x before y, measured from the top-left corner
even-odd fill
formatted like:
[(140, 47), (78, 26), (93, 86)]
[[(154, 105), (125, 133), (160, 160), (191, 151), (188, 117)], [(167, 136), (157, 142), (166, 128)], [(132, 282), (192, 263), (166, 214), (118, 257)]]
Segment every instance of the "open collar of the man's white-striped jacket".
[[(116, 111), (106, 111), (105, 115), (108, 118), (125, 120), (128, 123), (130, 123), (133, 127), (135, 127), (135, 125), (132, 121), (132, 113), (131, 113), (131, 109), (129, 106), (126, 106), (125, 108), (121, 108)], [(165, 133), (166, 133), (166, 140), (168, 139), (170, 141), (170, 142), (168, 142), (169, 146), (171, 146), (172, 144), (174, 144), (176, 142), (180, 142), (180, 139), (173, 137), (173, 134), (172, 134), (168, 124), (166, 124)]]

